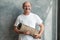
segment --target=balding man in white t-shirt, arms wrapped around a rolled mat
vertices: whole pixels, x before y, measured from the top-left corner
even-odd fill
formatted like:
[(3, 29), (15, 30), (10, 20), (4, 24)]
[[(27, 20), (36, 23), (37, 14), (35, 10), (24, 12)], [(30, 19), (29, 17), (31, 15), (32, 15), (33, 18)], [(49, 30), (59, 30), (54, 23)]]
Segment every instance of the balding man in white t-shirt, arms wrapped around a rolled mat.
[[(17, 20), (14, 24), (14, 31), (19, 34), (18, 40), (38, 40), (38, 38), (41, 37), (41, 35), (43, 34), (43, 31), (44, 31), (43, 21), (38, 15), (31, 12), (31, 6), (32, 6), (31, 3), (28, 1), (23, 3), (22, 8), (23, 8), (24, 12), (23, 12), (23, 14), (21, 14), (17, 17)], [(35, 38), (33, 38), (32, 36), (30, 36), (29, 31), (20, 32), (20, 30), (17, 29), (17, 26), (19, 23), (23, 23), (32, 28), (35, 28), (36, 25), (39, 25), (40, 31), (38, 34), (35, 34), (36, 36), (35, 36)]]

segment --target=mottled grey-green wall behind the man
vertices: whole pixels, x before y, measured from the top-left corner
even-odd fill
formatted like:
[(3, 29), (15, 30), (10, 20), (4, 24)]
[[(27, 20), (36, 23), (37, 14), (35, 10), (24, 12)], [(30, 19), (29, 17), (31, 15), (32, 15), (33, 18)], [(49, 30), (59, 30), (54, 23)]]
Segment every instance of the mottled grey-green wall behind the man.
[[(16, 34), (13, 31), (13, 24), (17, 16), (23, 13), (22, 3), (24, 1), (27, 1), (27, 0), (0, 0), (0, 40), (17, 40), (18, 34)], [(56, 35), (52, 35), (52, 34), (56, 34), (55, 33), (56, 24), (54, 24), (56, 23), (55, 22), (56, 18), (55, 16), (52, 16), (52, 15), (54, 15), (56, 10), (54, 7), (55, 11), (52, 13), (52, 6), (53, 6), (52, 4), (55, 4), (56, 0), (54, 0), (54, 3), (52, 0), (28, 0), (28, 1), (32, 3), (32, 12), (36, 13), (43, 19), (46, 26), (45, 29), (48, 29), (48, 30), (45, 30), (45, 33), (42, 39), (55, 40)], [(55, 21), (52, 20), (52, 17), (54, 18)], [(51, 24), (52, 21), (53, 21), (53, 24)]]

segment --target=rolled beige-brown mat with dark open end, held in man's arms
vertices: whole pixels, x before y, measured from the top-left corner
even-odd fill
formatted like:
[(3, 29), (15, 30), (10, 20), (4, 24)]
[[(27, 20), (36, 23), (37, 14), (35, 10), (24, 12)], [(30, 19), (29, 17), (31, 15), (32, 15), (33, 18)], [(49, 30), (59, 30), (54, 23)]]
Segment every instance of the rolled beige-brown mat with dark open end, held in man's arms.
[(17, 28), (20, 30), (20, 32), (30, 31), (31, 36), (34, 36), (34, 34), (39, 33), (38, 30), (36, 30), (36, 29), (34, 29), (34, 28), (30, 27), (30, 26), (24, 25), (22, 23), (20, 23)]

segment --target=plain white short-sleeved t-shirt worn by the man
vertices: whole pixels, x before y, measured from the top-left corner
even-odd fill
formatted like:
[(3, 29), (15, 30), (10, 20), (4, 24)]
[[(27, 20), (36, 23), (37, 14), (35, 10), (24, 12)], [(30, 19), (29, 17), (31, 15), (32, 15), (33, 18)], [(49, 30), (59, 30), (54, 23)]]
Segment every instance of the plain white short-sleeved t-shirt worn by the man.
[[(24, 14), (21, 14), (21, 15), (19, 15), (18, 17), (17, 17), (17, 20), (16, 20), (16, 22), (15, 22), (15, 26), (18, 26), (18, 24), (19, 23), (23, 23), (23, 24), (25, 24), (25, 25), (28, 25), (28, 26), (30, 26), (30, 27), (32, 27), (32, 28), (35, 28), (35, 26), (36, 25), (40, 25), (41, 23), (42, 23), (43, 21), (42, 21), (42, 19), (38, 16), (38, 15), (36, 15), (36, 14), (34, 14), (34, 13), (29, 13), (29, 15), (24, 15)], [(24, 35), (24, 34), (22, 34), (21, 36), (19, 36), (20, 38), (22, 38), (23, 37), (23, 39), (22, 40), (30, 40), (32, 37), (31, 36), (29, 36), (29, 35), (27, 35), (27, 37)], [(31, 37), (31, 38), (30, 38)], [(25, 38), (25, 39), (24, 39)], [(30, 38), (30, 39), (29, 39)], [(31, 39), (32, 40), (32, 39)]]

